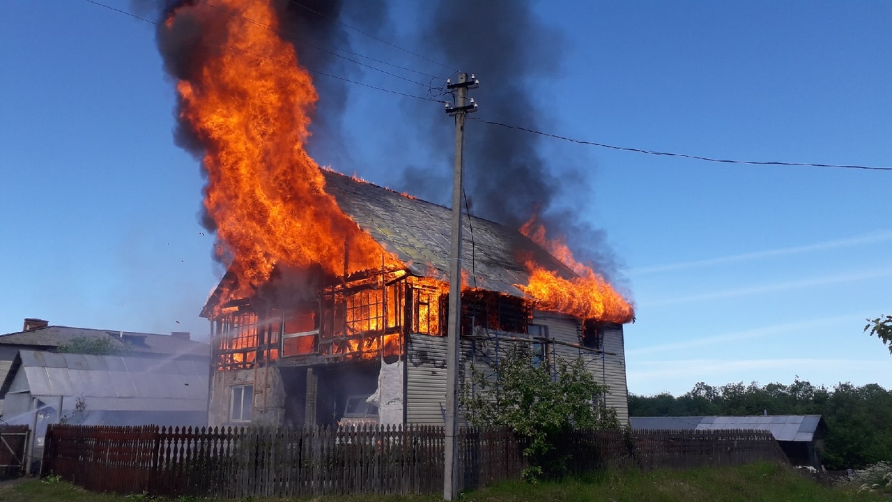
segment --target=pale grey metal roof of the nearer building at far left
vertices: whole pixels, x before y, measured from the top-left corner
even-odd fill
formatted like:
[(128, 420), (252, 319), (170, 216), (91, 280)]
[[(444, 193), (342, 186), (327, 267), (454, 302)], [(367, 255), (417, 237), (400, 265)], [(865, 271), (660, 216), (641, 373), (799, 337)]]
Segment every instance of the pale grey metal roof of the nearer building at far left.
[(207, 365), (197, 361), (20, 350), (0, 397), (62, 396), (65, 409), (83, 397), (94, 410), (204, 411), (208, 378)]

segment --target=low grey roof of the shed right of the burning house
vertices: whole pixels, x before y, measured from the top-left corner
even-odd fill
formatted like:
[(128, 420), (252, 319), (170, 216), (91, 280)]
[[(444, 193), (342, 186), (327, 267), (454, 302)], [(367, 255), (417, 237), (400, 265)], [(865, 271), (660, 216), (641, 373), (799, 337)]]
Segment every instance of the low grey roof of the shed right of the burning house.
[(826, 427), (820, 414), (753, 416), (633, 416), (632, 429), (660, 431), (728, 431), (735, 429), (771, 431), (779, 441), (811, 441), (819, 427)]

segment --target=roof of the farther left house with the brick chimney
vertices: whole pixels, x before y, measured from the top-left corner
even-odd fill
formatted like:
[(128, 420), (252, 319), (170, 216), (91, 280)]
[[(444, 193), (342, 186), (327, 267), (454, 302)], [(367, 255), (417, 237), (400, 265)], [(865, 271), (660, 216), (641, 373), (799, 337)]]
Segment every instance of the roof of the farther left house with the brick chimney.
[[(136, 331), (93, 330), (72, 328), (69, 326), (46, 326), (37, 330), (18, 331), (0, 335), (0, 344), (21, 347), (54, 348), (71, 339), (105, 338), (115, 347), (126, 349), (134, 354), (210, 357), (208, 344), (195, 340), (178, 339), (158, 333), (140, 333)], [(134, 343), (128, 343), (132, 340)], [(2, 374), (0, 374), (2, 376)]]

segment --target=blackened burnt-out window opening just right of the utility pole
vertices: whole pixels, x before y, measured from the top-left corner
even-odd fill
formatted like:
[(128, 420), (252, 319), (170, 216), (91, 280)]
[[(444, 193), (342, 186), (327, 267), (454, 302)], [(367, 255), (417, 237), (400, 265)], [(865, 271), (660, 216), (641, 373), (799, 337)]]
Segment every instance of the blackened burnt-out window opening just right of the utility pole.
[(464, 335), (473, 334), (475, 327), (525, 333), (531, 314), (522, 298), (481, 289), (462, 293), (461, 312), (461, 332)]

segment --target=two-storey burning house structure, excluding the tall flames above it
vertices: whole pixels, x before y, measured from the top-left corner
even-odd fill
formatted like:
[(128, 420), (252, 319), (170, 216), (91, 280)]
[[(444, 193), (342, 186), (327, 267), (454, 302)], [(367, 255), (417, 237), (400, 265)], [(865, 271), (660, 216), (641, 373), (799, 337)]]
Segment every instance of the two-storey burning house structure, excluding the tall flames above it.
[[(291, 272), (303, 277), (296, 283), (274, 272), (242, 296), (233, 291), (244, 285), (227, 274), (201, 313), (211, 320), (209, 423), (442, 424), (450, 210), (334, 172), (324, 176), (337, 205), (401, 266), (388, 268), (382, 257), (380, 270), (349, 276)], [(470, 364), (492, 364), (512, 345), (549, 367), (582, 357), (609, 386), (607, 406), (625, 423), (623, 326), (537, 310), (517, 287), (529, 280), (524, 259), (533, 256), (564, 277), (574, 272), (517, 230), (470, 220), (460, 380)]]

